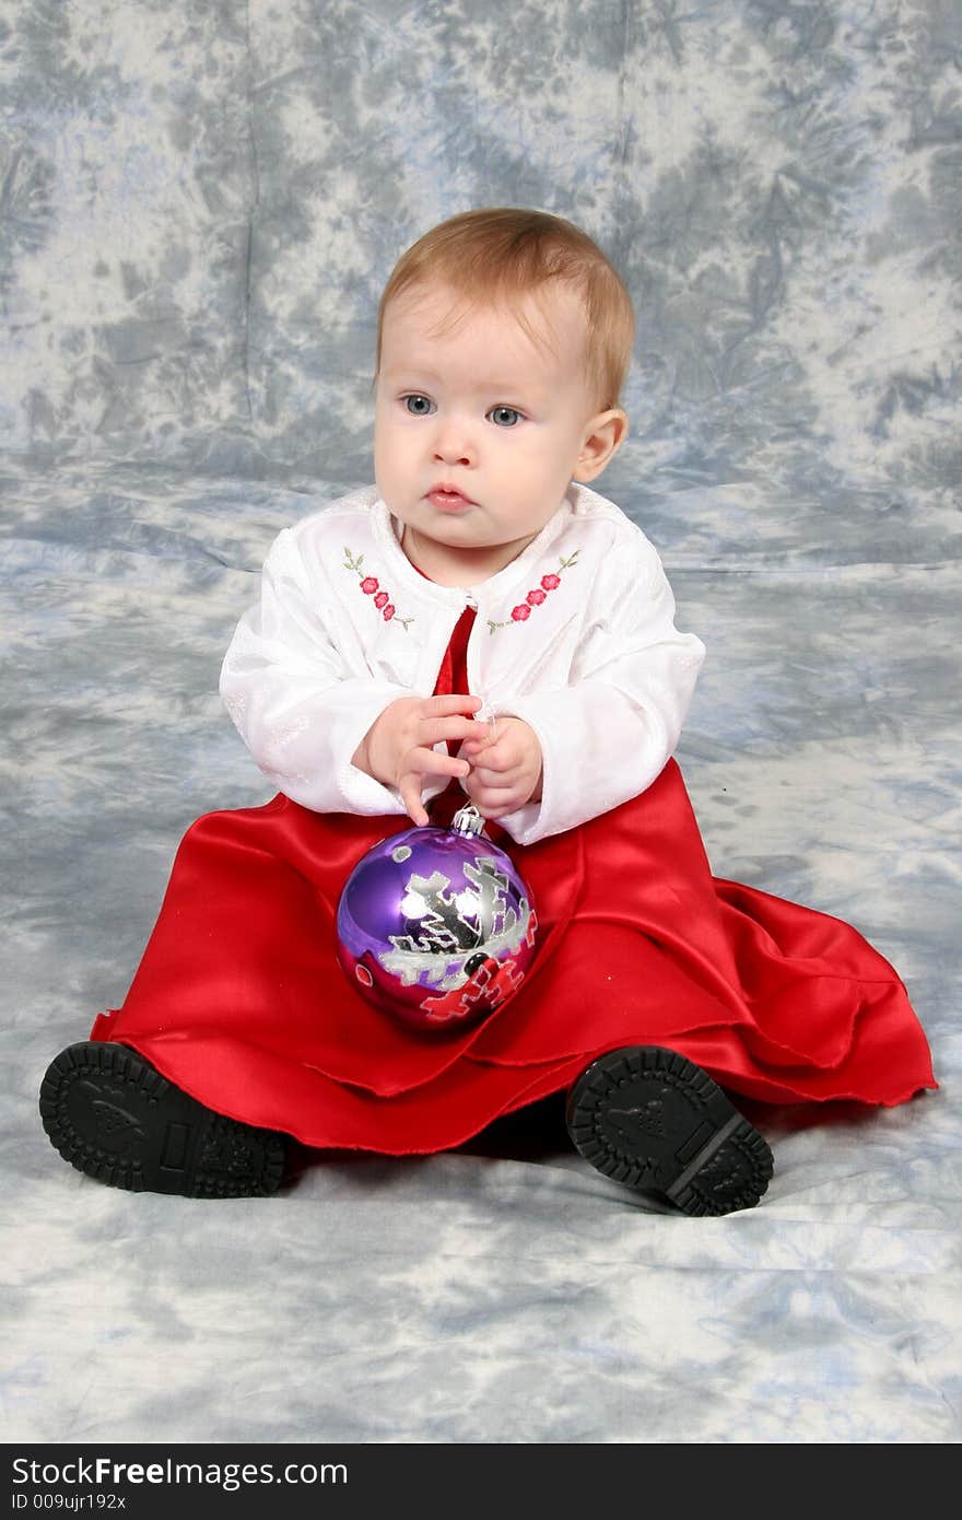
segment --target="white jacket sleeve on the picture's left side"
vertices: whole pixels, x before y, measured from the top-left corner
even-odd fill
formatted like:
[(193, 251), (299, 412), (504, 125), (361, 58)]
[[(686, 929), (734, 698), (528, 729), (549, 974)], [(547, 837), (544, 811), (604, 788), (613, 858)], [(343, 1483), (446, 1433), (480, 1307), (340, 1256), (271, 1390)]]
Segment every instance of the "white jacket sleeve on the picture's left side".
[(353, 675), (318, 610), (293, 532), (274, 541), (260, 600), (240, 619), (220, 696), (254, 760), (281, 792), (315, 812), (403, 813), (395, 787), (351, 763), (403, 686)]

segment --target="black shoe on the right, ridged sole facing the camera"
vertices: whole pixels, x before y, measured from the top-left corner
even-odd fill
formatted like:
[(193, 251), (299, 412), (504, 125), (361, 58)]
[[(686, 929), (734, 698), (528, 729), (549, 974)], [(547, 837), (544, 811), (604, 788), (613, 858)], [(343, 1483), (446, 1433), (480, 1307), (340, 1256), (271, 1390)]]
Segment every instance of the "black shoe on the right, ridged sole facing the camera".
[(611, 1050), (578, 1078), (568, 1134), (591, 1166), (685, 1214), (754, 1208), (772, 1152), (701, 1066), (660, 1046)]

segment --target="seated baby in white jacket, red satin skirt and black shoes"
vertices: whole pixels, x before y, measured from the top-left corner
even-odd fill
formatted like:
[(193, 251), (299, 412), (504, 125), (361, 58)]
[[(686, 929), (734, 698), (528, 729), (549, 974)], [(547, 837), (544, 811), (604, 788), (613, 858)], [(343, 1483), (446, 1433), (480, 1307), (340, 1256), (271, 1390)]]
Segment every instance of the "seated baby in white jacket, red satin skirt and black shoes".
[[(90, 1176), (237, 1196), (287, 1137), (462, 1145), (552, 1093), (608, 1176), (751, 1207), (769, 1146), (729, 1094), (894, 1105), (935, 1087), (894, 968), (851, 926), (714, 877), (673, 760), (705, 651), (641, 527), (590, 488), (628, 433), (634, 310), (543, 211), (454, 216), (380, 304), (375, 483), (275, 540), (220, 690), (263, 807), (184, 836), (122, 1008), (50, 1064)], [(468, 798), (538, 909), (530, 973), (424, 1035), (337, 964), (340, 891)]]

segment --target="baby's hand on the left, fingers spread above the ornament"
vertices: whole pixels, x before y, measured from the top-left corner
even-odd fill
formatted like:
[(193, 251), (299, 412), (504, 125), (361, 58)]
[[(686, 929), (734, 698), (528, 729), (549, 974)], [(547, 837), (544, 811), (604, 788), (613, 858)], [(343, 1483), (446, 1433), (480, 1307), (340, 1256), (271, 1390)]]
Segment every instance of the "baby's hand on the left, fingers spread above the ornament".
[[(445, 739), (465, 739), (479, 724), (480, 696), (398, 696), (371, 725), (354, 754), (354, 765), (383, 786), (395, 786), (418, 825), (429, 822), (421, 792), (432, 775), (467, 777), (467, 760), (435, 751)], [(480, 725), (486, 731), (486, 724)]]

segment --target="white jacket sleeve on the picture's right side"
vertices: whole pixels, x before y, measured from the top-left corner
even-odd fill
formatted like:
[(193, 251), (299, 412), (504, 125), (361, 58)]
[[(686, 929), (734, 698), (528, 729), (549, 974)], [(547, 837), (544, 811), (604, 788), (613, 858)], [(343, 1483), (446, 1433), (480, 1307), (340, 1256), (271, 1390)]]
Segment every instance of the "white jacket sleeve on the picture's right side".
[(498, 818), (518, 844), (584, 824), (637, 796), (664, 769), (705, 646), (675, 628), (675, 597), (646, 538), (619, 543), (593, 590), (568, 684), (500, 708), (524, 719), (544, 757), (541, 801)]

